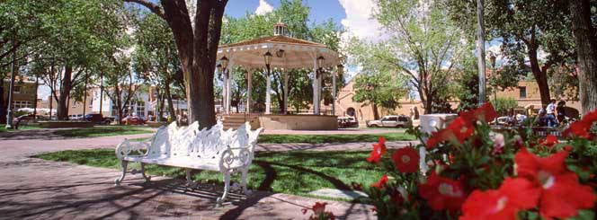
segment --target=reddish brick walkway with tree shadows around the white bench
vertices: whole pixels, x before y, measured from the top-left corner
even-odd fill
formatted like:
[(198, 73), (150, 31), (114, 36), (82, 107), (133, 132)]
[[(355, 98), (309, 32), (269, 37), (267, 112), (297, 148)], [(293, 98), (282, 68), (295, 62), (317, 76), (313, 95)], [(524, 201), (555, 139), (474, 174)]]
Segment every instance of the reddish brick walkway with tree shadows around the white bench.
[[(0, 140), (0, 218), (183, 218), (183, 219), (304, 219), (300, 210), (322, 199), (254, 192), (232, 204), (216, 208), (221, 189), (188, 190), (182, 180), (156, 178), (144, 183), (129, 176), (113, 187), (119, 172), (111, 169), (54, 163), (30, 158), (40, 152), (114, 147), (124, 138)], [(405, 145), (389, 143), (389, 146)], [(370, 149), (366, 143), (259, 145), (258, 151)], [(221, 188), (221, 186), (215, 186)], [(375, 219), (370, 206), (326, 201), (341, 219)]]

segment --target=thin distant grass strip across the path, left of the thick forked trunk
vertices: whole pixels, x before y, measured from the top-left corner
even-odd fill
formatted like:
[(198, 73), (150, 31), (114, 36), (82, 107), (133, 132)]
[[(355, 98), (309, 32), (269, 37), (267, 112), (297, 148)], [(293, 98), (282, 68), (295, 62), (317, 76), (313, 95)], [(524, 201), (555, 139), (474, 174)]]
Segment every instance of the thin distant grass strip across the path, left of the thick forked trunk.
[(54, 134), (68, 137), (122, 136), (154, 133), (154, 130), (140, 126), (96, 126), (94, 128), (76, 128), (57, 130)]

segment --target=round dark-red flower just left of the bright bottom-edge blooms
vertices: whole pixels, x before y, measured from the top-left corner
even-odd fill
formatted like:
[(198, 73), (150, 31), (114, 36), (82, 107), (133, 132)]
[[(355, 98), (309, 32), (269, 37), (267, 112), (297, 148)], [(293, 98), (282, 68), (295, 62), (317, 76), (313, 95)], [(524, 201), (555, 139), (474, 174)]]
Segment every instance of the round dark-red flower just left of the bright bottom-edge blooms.
[(418, 186), (419, 195), (427, 199), (427, 203), (433, 210), (458, 210), (467, 198), (462, 182), (443, 178), (435, 172), (424, 184)]

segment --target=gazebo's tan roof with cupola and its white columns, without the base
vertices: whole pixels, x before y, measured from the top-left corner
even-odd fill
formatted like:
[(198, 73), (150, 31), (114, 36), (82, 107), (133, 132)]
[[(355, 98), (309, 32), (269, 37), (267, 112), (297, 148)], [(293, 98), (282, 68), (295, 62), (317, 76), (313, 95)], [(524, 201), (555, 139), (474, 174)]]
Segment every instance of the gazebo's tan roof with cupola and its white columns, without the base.
[[(321, 84), (322, 75), (325, 69), (332, 69), (332, 112), (335, 112), (335, 79), (336, 75), (343, 71), (338, 53), (325, 44), (308, 40), (300, 40), (289, 36), (287, 25), (278, 22), (273, 26), (273, 36), (263, 37), (254, 40), (246, 40), (234, 44), (222, 45), (218, 48), (218, 72), (223, 73), (223, 103), (224, 112), (230, 113), (230, 82), (232, 75), (227, 69), (235, 66), (242, 66), (246, 69), (263, 69), (266, 76), (266, 95), (264, 115), (271, 115), (271, 70), (278, 68), (283, 70), (284, 88), (288, 88), (289, 72), (291, 69), (311, 69), (313, 80), (313, 115), (320, 116)], [(247, 73), (247, 103), (246, 111), (251, 112), (251, 71)], [(288, 106), (288, 89), (284, 90), (284, 110)], [(287, 112), (282, 112), (286, 115)], [(334, 114), (334, 113), (333, 113)], [(280, 115), (278, 115), (280, 116)], [(335, 118), (335, 117), (334, 117)], [(277, 118), (278, 119), (278, 118)], [(334, 119), (334, 124), (337, 124)], [(337, 128), (337, 125), (336, 125)]]

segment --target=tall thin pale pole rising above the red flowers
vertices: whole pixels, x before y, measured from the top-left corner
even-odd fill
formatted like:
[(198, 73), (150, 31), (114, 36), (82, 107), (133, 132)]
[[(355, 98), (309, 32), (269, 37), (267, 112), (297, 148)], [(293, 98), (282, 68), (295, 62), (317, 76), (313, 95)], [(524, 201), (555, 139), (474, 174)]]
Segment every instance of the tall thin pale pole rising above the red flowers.
[(484, 0), (477, 0), (477, 57), (479, 67), (479, 106), (484, 104), (486, 99), (485, 23), (483, 22), (483, 2)]

